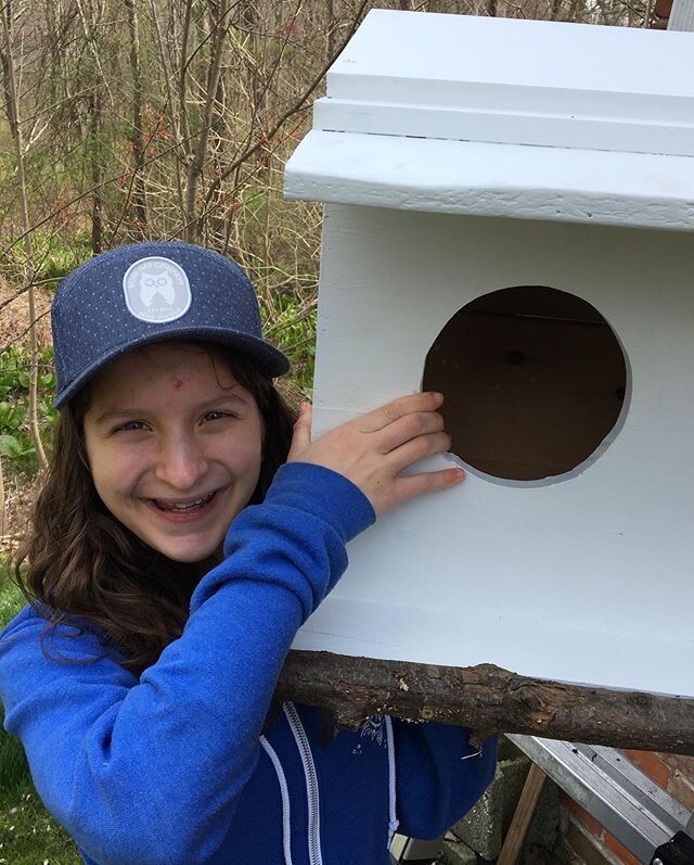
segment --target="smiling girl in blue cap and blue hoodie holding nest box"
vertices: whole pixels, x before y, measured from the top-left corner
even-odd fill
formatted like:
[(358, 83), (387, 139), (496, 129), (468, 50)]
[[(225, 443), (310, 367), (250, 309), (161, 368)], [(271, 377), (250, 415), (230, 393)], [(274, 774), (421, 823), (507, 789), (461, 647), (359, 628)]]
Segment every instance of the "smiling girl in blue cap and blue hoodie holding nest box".
[(98, 256), (52, 315), (61, 416), (0, 698), (85, 863), (385, 865), (398, 821), (436, 837), (487, 786), (493, 742), (475, 755), (467, 730), (378, 715), (321, 742), (319, 710), (270, 710), (347, 542), (462, 480), (401, 474), (448, 448), (441, 397), (316, 442), (304, 407), (292, 431), (250, 282), (183, 243)]

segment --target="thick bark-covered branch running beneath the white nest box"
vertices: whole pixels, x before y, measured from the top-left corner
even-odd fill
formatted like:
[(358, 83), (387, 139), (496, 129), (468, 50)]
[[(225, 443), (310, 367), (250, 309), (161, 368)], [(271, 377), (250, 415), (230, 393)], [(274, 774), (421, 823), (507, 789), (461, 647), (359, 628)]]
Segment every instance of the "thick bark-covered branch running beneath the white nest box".
[(694, 754), (694, 699), (563, 685), (492, 664), (450, 667), (292, 651), (275, 699), (327, 709), (348, 729), (384, 712), (471, 727), (477, 742), (517, 733)]

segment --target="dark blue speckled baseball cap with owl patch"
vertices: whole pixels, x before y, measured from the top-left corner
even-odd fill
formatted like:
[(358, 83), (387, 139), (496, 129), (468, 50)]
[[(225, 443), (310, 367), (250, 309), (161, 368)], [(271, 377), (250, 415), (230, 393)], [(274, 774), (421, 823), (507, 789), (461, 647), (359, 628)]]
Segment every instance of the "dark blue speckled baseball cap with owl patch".
[(190, 243), (133, 243), (95, 256), (61, 282), (51, 322), (55, 408), (115, 358), (165, 340), (228, 345), (268, 378), (290, 368), (262, 339), (246, 274), (230, 258)]

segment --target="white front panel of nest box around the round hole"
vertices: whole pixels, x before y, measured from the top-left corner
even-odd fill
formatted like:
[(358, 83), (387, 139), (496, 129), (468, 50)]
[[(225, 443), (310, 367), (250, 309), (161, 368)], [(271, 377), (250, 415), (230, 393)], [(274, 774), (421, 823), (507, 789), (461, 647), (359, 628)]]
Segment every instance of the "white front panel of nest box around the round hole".
[(296, 646), (694, 696), (693, 272), (684, 233), (329, 205), (316, 434), (417, 391), (447, 320), (512, 285), (595, 306), (631, 392), (575, 476), (471, 472), (386, 516)]

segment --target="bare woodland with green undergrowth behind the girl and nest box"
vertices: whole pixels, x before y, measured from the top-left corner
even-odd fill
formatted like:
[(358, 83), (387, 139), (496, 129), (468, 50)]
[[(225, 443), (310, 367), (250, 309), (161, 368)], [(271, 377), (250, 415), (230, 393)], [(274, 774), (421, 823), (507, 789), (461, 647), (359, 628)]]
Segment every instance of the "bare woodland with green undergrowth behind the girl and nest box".
[[(235, 258), (310, 395), (321, 211), (282, 199), (324, 75), (373, 7), (648, 26), (648, 0), (7, 0), (0, 7), (0, 626), (50, 458), (48, 316), (67, 271), (144, 239)], [(461, 47), (461, 51), (464, 47)], [(0, 733), (0, 865), (73, 865)]]

